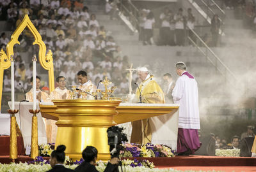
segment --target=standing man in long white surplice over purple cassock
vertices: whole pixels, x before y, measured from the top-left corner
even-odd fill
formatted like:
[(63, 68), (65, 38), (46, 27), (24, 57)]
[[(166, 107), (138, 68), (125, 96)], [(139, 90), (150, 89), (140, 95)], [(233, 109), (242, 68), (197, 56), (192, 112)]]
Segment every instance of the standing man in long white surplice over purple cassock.
[(197, 82), (194, 76), (186, 71), (184, 62), (177, 62), (175, 69), (179, 78), (172, 96), (174, 103), (180, 104), (177, 153), (180, 155), (194, 154), (200, 148)]

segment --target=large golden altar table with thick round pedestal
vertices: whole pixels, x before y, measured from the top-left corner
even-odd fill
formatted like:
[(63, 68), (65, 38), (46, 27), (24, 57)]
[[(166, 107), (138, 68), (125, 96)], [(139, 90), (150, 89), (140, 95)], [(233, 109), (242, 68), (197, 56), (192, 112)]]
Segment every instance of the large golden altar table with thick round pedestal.
[(52, 102), (54, 105), (41, 104), (40, 111), (42, 117), (58, 119), (56, 146), (66, 145), (66, 154), (72, 159), (80, 159), (83, 149), (92, 145), (97, 148), (98, 159), (102, 161), (110, 158), (108, 127), (166, 113), (173, 115), (179, 108), (178, 104), (120, 104), (121, 101), (108, 100)]

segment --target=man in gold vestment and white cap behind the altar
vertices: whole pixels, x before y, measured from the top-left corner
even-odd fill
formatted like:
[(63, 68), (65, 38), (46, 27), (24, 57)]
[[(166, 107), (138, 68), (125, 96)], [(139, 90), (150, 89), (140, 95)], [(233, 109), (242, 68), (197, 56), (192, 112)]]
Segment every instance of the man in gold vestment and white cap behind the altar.
[[(148, 73), (145, 67), (138, 69), (138, 75), (141, 79), (139, 89), (136, 90), (136, 97), (142, 103), (164, 103), (164, 93), (161, 87), (154, 80), (154, 76)], [(132, 122), (132, 136), (131, 143), (145, 144), (150, 143), (152, 138), (152, 131), (150, 129), (150, 122), (147, 119), (137, 120)]]

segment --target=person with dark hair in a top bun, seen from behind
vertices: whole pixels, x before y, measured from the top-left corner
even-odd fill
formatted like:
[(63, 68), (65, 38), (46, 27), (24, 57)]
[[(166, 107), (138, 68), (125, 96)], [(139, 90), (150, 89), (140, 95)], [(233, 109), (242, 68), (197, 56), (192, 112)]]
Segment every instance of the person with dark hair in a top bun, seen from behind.
[(50, 169), (47, 172), (71, 172), (74, 171), (73, 169), (68, 169), (63, 166), (63, 163), (65, 161), (65, 151), (66, 147), (65, 145), (60, 145), (56, 148), (56, 150), (52, 151), (51, 158), (50, 158), (50, 164), (52, 169)]

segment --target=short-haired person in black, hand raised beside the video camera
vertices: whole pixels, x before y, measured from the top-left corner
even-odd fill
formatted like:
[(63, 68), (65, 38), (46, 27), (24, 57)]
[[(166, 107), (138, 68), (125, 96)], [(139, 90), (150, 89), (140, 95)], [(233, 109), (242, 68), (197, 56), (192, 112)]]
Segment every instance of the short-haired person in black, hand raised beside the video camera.
[[(95, 168), (96, 160), (97, 160), (97, 154), (98, 150), (95, 147), (92, 146), (87, 146), (83, 152), (82, 156), (84, 159), (84, 162), (77, 166), (75, 171), (77, 172), (98, 172), (98, 170)], [(117, 164), (118, 164), (118, 158), (113, 157), (107, 164), (106, 169), (104, 172), (111, 172), (111, 171), (116, 171), (117, 169)]]

